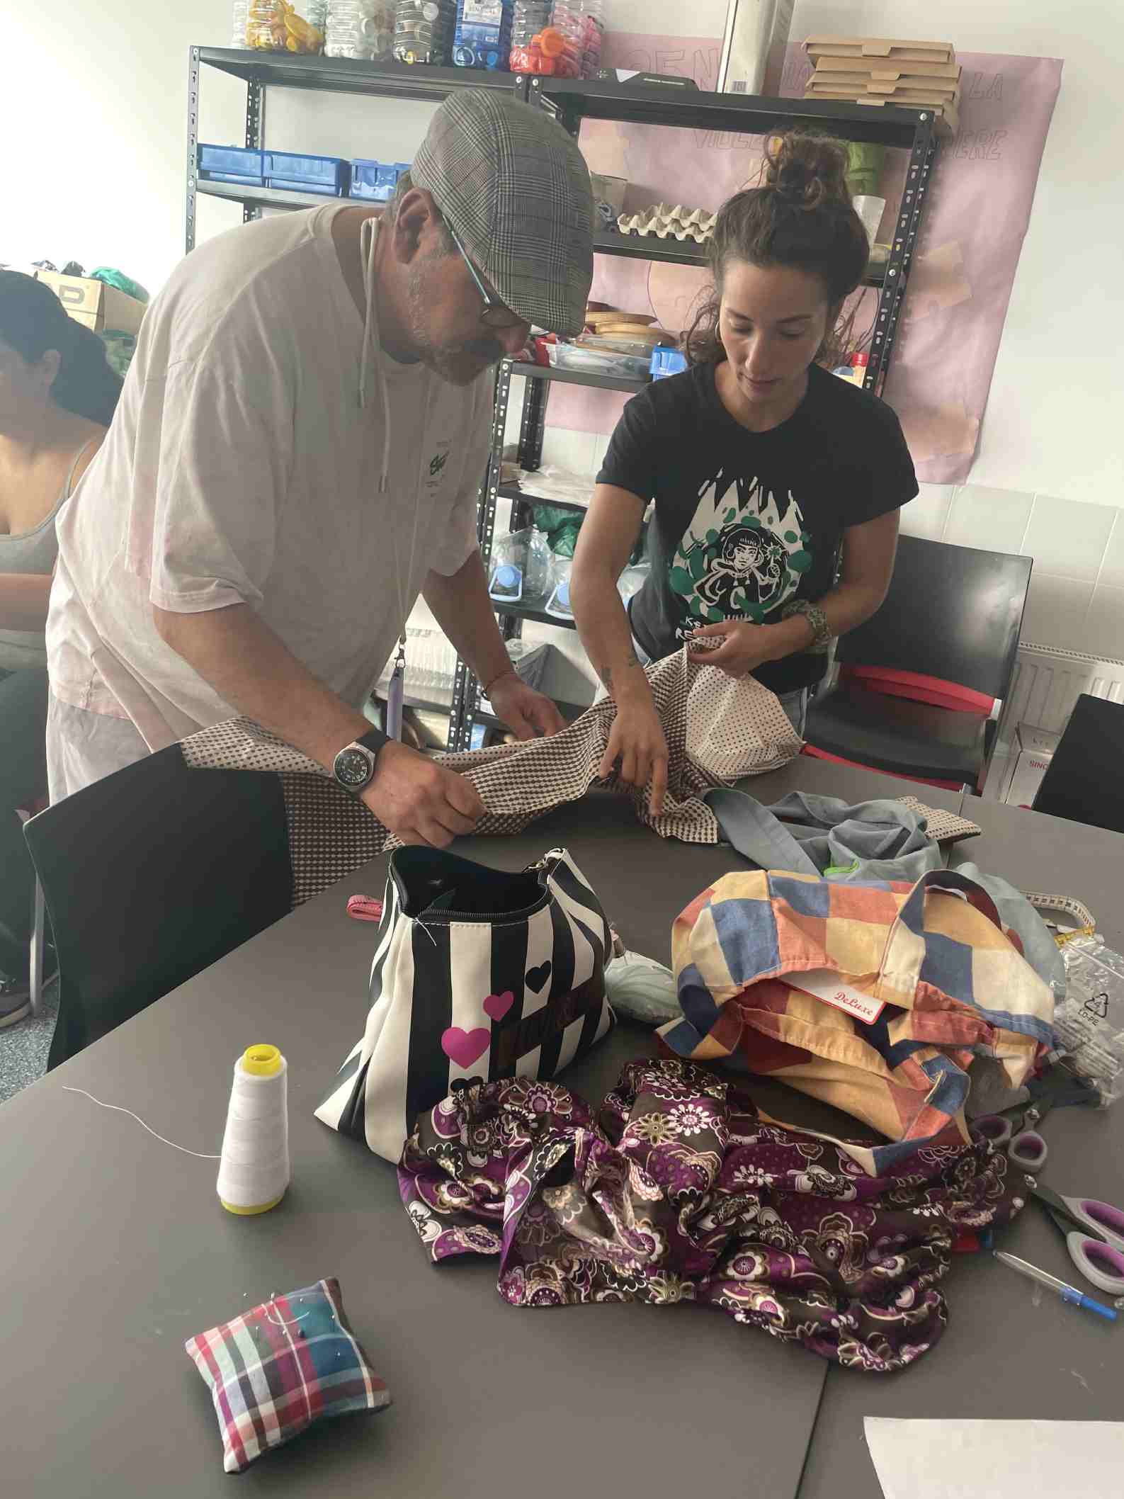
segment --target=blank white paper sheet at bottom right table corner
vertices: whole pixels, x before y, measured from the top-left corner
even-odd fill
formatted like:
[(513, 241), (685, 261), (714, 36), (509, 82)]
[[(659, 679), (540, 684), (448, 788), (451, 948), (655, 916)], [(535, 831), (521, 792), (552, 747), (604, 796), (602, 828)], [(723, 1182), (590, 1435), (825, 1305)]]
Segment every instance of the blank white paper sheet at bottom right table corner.
[(1108, 1499), (1124, 1483), (1118, 1421), (893, 1421), (866, 1417), (886, 1499)]

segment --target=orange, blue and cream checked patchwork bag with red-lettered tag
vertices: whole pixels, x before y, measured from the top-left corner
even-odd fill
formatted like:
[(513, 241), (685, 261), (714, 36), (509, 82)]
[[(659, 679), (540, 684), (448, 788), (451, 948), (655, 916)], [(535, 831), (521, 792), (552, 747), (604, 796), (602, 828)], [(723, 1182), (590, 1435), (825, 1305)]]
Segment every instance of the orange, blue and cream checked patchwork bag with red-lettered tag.
[(916, 884), (728, 874), (671, 931), (682, 1018), (664, 1045), (781, 1078), (878, 1130), (841, 1141), (871, 1174), (968, 1144), (977, 1057), (1009, 1087), (1054, 1045), (1054, 994), (991, 895), (956, 869)]

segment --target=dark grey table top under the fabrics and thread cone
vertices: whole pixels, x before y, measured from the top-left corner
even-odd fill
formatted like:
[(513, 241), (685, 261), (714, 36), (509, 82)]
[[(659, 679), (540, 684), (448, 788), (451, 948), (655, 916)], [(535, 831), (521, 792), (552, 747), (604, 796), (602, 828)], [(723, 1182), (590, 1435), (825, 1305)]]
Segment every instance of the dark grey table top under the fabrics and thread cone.
[[(803, 788), (959, 805), (956, 793), (812, 760), (749, 785), (766, 802)], [(1025, 860), (1037, 818), (1019, 815), (1031, 818)], [(743, 866), (728, 848), (662, 842), (608, 796), (519, 838), (466, 839), (460, 851), (519, 868), (553, 844), (571, 848), (625, 940), (664, 961), (677, 911), (718, 874)], [(971, 848), (998, 868), (986, 839)], [(1033, 1309), (1031, 1289), (992, 1261), (953, 1267), (952, 1325), (917, 1369), (886, 1381), (832, 1370), (826, 1384), (827, 1366), (814, 1355), (719, 1315), (517, 1310), (498, 1298), (493, 1264), (429, 1265), (390, 1166), (312, 1115), (366, 1015), (373, 928), (349, 920), (345, 899), (361, 889), (381, 895), (381, 871), (376, 860), (324, 892), (3, 1105), (6, 1493), (228, 1493), (210, 1396), (183, 1342), (327, 1274), (339, 1276), (396, 1405), (378, 1420), (330, 1423), (261, 1460), (241, 1480), (250, 1489), (304, 1495), (316, 1484), (333, 1499), (376, 1486), (400, 1499), (534, 1489), (568, 1499), (592, 1481), (598, 1492), (679, 1499), (710, 1478), (736, 1493), (785, 1496), (797, 1490), (811, 1442), (802, 1495), (826, 1493), (829, 1481), (833, 1495), (874, 1495), (865, 1411), (980, 1414), (980, 1391), (994, 1385), (995, 1415), (1109, 1414), (1108, 1372), (1118, 1388), (1121, 1364), (1103, 1339), (1114, 1330), (1052, 1300)], [(292, 1186), (259, 1219), (222, 1211), (214, 1162), (172, 1151), (133, 1120), (63, 1091), (85, 1088), (190, 1150), (217, 1151), (229, 1069), (255, 1040), (277, 1043), (291, 1069)], [(620, 1064), (649, 1048), (649, 1033), (622, 1025), (565, 1081), (599, 1097)], [(1112, 1114), (1060, 1120), (1049, 1132), (1058, 1138), (1051, 1181), (1124, 1201), (1114, 1129)], [(1061, 1240), (1039, 1219), (1036, 1208), (1024, 1214), (1010, 1244), (1061, 1271)], [(685, 1388), (697, 1396), (689, 1417)]]

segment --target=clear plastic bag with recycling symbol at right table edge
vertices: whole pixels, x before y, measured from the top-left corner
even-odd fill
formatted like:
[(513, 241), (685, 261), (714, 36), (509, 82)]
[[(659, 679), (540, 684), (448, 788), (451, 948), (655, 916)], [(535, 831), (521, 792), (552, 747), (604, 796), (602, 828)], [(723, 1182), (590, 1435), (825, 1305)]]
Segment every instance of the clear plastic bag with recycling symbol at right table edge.
[(1100, 937), (1075, 937), (1061, 949), (1066, 998), (1054, 1012), (1066, 1066), (1088, 1078), (1100, 1106), (1124, 1093), (1124, 956)]

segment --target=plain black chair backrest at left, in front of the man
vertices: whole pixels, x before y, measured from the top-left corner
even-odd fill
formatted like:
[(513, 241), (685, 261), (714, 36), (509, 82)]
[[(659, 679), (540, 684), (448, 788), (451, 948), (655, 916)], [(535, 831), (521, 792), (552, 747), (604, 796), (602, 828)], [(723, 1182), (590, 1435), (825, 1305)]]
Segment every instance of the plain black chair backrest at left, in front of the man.
[(178, 745), (39, 812), (24, 835), (58, 953), (49, 1067), (289, 910), (280, 778), (193, 770)]

